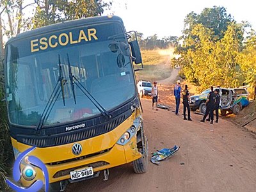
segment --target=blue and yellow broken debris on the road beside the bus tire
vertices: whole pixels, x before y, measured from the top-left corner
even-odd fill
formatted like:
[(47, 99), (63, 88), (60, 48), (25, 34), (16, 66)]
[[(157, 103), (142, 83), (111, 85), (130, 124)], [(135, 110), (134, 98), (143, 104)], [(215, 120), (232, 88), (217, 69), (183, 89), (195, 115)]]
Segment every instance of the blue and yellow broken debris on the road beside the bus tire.
[(154, 154), (152, 154), (151, 162), (159, 165), (159, 161), (163, 161), (167, 157), (172, 156), (179, 150), (179, 146), (175, 145), (173, 148), (162, 148), (161, 150), (157, 150)]

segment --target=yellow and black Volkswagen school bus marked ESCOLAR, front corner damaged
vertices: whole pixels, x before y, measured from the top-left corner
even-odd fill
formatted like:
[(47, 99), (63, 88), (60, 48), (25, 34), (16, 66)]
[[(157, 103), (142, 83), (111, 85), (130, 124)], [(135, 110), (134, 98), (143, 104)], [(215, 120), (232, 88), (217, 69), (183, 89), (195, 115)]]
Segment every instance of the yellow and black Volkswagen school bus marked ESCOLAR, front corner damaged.
[[(45, 164), (49, 191), (100, 172), (107, 180), (109, 168), (125, 163), (132, 163), (135, 173), (147, 171), (133, 65), (142, 61), (131, 33), (120, 17), (104, 16), (35, 29), (6, 43), (13, 152), (17, 158), (35, 147), (29, 156)], [(24, 175), (28, 166), (33, 174)], [(22, 161), (20, 172), (24, 187), (44, 181), (29, 161)]]

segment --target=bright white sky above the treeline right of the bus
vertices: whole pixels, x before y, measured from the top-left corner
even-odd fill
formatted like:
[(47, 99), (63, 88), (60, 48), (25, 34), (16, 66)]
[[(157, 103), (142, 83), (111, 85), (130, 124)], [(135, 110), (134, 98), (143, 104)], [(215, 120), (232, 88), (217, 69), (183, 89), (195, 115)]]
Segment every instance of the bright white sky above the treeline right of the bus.
[(113, 0), (111, 11), (104, 14), (121, 17), (127, 31), (140, 31), (144, 38), (154, 34), (163, 38), (180, 36), (188, 13), (213, 6), (225, 7), (237, 22), (246, 20), (256, 29), (255, 0)]

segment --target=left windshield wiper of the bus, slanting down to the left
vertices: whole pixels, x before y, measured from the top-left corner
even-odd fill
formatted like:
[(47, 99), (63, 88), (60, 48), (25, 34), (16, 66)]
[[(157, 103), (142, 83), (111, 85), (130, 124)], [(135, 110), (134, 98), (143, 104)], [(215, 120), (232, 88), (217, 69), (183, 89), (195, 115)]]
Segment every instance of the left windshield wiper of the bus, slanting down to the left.
[[(61, 65), (60, 65), (60, 54), (59, 54), (58, 59), (59, 59), (59, 78), (58, 78), (58, 81), (56, 82), (54, 89), (52, 90), (51, 96), (44, 108), (44, 111), (42, 113), (40, 121), (39, 121), (38, 125), (36, 126), (36, 131), (38, 131), (42, 128), (44, 121), (47, 120), (47, 118), (49, 117), (56, 100), (60, 96), (60, 92), (62, 92), (63, 104), (65, 106), (64, 84), (67, 82), (67, 80), (64, 79), (64, 77), (62, 76), (62, 70), (61, 70)], [(58, 86), (59, 83), (60, 83), (60, 86)]]

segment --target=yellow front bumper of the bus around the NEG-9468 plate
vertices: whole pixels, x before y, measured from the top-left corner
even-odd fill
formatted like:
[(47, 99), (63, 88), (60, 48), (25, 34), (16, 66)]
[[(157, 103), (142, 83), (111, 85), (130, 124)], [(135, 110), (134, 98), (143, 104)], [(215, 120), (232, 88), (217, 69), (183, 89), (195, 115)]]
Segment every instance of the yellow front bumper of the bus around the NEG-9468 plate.
[[(116, 143), (108, 151), (102, 152), (102, 154), (86, 157), (84, 159), (74, 159), (74, 161), (68, 163), (45, 164), (49, 173), (49, 183), (70, 179), (70, 172), (73, 172), (74, 170), (83, 170), (84, 168), (92, 167), (93, 173), (97, 174), (97, 172), (102, 170), (139, 159), (142, 155), (138, 152), (136, 143), (136, 136), (134, 136), (125, 145), (118, 145)], [(22, 166), (24, 165), (21, 164), (21, 168)], [(20, 182), (22, 186), (31, 186), (31, 184), (38, 179), (45, 182), (42, 171), (39, 168), (35, 168), (35, 170), (36, 177), (34, 180), (28, 181), (21, 177)], [(72, 182), (76, 182), (76, 180), (72, 180)]]

